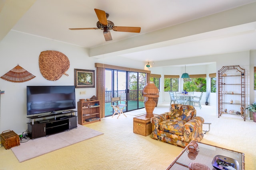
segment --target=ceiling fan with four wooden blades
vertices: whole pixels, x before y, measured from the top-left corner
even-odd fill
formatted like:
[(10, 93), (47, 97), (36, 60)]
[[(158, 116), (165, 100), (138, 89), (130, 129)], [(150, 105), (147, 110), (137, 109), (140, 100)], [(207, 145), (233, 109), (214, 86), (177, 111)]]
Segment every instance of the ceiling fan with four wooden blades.
[(70, 30), (81, 30), (81, 29), (102, 29), (103, 35), (106, 41), (111, 41), (111, 33), (110, 30), (121, 31), (121, 32), (132, 32), (132, 33), (140, 33), (140, 27), (118, 27), (115, 26), (112, 21), (108, 21), (107, 18), (109, 16), (108, 13), (102, 10), (94, 9), (96, 15), (98, 17), (97, 28), (70, 28)]

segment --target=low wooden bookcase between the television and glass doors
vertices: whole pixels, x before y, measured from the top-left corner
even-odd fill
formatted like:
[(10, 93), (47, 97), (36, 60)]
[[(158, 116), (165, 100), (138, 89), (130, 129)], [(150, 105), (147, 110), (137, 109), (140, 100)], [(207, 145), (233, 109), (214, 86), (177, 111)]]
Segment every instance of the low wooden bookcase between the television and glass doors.
[[(98, 104), (98, 106), (95, 106)], [(88, 107), (89, 106), (89, 107)], [(85, 102), (77, 102), (78, 107), (78, 124), (86, 125), (89, 123), (94, 123), (100, 121), (100, 101), (85, 101)], [(86, 119), (97, 117), (99, 119), (94, 121), (86, 121)]]

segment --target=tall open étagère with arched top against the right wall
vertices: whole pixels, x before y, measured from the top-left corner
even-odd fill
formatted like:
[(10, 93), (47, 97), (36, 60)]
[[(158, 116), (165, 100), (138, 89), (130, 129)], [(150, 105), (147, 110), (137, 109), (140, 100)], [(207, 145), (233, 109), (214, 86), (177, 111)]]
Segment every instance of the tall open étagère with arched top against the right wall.
[[(223, 66), (218, 70), (218, 117), (222, 114), (239, 115), (245, 121), (245, 108), (245, 69), (239, 65)], [(241, 114), (236, 114), (237, 111)]]

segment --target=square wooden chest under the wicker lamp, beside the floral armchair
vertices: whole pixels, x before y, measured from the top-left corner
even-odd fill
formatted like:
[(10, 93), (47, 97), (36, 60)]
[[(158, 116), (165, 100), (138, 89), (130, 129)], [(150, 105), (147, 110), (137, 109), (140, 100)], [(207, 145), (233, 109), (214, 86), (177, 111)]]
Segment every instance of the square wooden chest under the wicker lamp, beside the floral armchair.
[(133, 133), (143, 136), (150, 135), (152, 133), (152, 123), (150, 122), (150, 118), (145, 117), (145, 115), (134, 117)]

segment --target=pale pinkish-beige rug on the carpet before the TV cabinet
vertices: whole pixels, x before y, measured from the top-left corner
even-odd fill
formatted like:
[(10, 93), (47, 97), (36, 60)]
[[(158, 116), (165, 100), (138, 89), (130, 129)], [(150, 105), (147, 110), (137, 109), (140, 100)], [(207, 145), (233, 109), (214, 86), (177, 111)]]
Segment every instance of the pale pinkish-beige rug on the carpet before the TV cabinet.
[(102, 134), (103, 133), (90, 129), (89, 127), (78, 125), (76, 129), (49, 135), (48, 137), (29, 140), (28, 142), (20, 143), (20, 146), (11, 149), (19, 162), (23, 162)]

